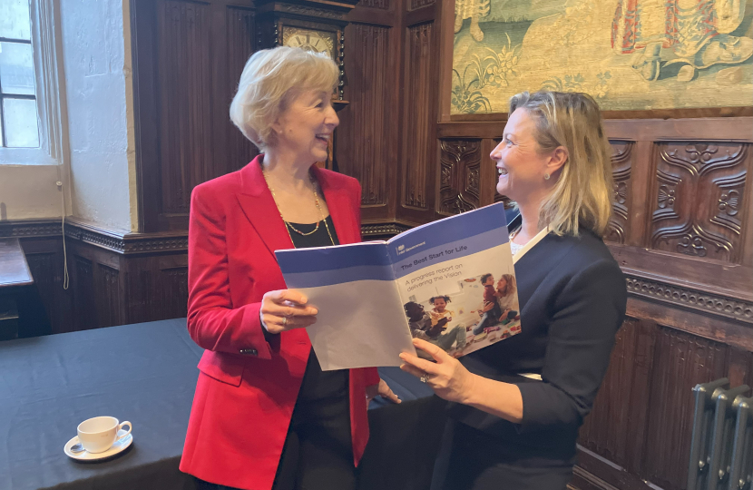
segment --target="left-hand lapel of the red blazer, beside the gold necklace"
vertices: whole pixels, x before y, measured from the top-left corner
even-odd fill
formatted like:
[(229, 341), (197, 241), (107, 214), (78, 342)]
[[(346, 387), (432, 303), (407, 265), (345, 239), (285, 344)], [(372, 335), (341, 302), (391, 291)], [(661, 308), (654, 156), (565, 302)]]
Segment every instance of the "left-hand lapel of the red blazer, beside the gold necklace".
[[(277, 204), (264, 180), (261, 171), (263, 154), (257, 156), (240, 170), (241, 191), (236, 194), (240, 209), (259, 233), (259, 237), (267, 245), (274, 256), (275, 250), (293, 248), (285, 223), (279, 216)], [(334, 217), (333, 217), (334, 219)]]

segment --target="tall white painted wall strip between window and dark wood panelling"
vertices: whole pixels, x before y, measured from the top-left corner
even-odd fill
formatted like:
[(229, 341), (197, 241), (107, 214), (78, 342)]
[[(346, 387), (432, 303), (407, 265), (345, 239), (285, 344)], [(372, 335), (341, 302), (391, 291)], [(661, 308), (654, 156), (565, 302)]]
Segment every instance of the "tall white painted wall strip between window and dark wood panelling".
[(60, 13), (73, 216), (109, 230), (132, 231), (138, 221), (132, 219), (136, 212), (133, 138), (128, 131), (132, 103), (126, 103), (126, 82), (131, 83), (130, 42), (128, 53), (124, 42), (131, 33), (123, 26), (127, 4), (127, 0), (61, 0)]

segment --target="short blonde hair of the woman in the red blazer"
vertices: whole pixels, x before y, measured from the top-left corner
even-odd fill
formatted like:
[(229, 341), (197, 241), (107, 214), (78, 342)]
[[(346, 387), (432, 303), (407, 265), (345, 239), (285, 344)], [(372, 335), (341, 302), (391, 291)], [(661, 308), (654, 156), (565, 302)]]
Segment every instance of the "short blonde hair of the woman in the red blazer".
[(307, 90), (332, 92), (339, 70), (327, 54), (279, 46), (252, 54), (230, 103), (230, 121), (260, 151), (274, 146), (272, 123)]

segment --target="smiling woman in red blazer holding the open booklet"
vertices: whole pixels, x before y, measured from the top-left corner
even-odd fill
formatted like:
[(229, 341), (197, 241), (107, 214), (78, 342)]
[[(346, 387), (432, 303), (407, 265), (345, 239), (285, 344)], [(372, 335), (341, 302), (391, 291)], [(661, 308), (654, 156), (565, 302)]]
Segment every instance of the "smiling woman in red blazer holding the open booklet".
[(206, 351), (181, 471), (207, 488), (355, 488), (368, 399), (397, 401), (376, 368), (321, 370), (303, 328), (317, 310), (274, 256), (360, 240), (358, 182), (314, 165), (338, 123), (335, 83), (317, 54), (251, 56), (230, 117), (264, 153), (191, 195), (188, 328)]

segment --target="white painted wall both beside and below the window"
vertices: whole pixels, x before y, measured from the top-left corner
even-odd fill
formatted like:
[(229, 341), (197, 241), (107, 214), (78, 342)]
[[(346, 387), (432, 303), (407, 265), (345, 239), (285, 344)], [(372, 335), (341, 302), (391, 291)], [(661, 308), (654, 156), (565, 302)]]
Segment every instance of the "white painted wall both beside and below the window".
[[(128, 0), (61, 0), (70, 169), (0, 162), (0, 220), (66, 214), (136, 231), (135, 142)], [(69, 181), (70, 178), (70, 181)]]

